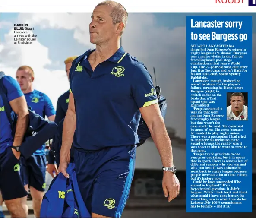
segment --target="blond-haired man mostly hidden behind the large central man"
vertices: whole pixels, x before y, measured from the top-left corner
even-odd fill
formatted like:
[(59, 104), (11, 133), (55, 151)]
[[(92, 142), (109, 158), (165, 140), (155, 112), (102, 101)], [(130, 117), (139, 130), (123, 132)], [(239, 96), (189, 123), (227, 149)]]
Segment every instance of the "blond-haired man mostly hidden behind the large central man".
[[(72, 62), (73, 60), (76, 59), (77, 56), (73, 56), (73, 57), (68, 57), (64, 63), (65, 63), (65, 70), (66, 70), (66, 76), (68, 78), (68, 80), (70, 80), (69, 76), (70, 76), (70, 68), (72, 66)], [(59, 124), (60, 121), (66, 116), (66, 111), (67, 108), (69, 106), (69, 99), (70, 97), (70, 91), (66, 91), (65, 93), (63, 93), (62, 95), (60, 95), (60, 97), (58, 98), (57, 101), (57, 110), (56, 110), (56, 117), (54, 122)], [(57, 163), (60, 162), (60, 160), (56, 161)], [(54, 173), (57, 174), (57, 165), (55, 164), (55, 157), (54, 154), (52, 152), (49, 152), (48, 155), (48, 165), (47, 165), (47, 172), (49, 174), (51, 174), (52, 177), (54, 177)]]

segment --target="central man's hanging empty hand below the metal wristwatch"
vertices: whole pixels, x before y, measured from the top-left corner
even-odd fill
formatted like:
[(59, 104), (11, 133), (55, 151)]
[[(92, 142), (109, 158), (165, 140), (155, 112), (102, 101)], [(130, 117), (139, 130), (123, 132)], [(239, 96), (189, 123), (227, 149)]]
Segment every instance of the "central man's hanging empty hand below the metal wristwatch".
[(176, 175), (170, 171), (164, 171), (163, 177), (164, 196), (168, 197), (168, 202), (177, 197), (180, 193), (180, 182)]

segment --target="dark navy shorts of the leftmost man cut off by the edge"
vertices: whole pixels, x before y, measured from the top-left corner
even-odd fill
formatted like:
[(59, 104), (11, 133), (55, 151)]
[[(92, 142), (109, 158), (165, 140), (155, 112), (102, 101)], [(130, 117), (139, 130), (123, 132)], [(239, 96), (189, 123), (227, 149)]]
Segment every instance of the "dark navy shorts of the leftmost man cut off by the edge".
[(20, 178), (20, 164), (11, 147), (1, 154), (1, 193), (3, 199), (12, 200), (28, 195)]

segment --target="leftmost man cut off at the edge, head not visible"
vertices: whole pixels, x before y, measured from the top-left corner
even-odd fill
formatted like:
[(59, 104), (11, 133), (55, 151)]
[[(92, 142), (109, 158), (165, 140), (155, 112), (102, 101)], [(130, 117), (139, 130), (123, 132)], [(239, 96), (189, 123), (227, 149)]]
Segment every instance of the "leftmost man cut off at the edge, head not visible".
[(19, 176), (20, 152), (16, 152), (13, 146), (22, 144), (28, 127), (28, 107), (16, 80), (10, 76), (4, 76), (1, 80), (7, 90), (7, 101), (14, 113), (18, 115), (13, 137), (1, 95), (1, 194), (12, 217), (26, 217), (25, 210), (22, 208), (22, 198), (28, 193)]

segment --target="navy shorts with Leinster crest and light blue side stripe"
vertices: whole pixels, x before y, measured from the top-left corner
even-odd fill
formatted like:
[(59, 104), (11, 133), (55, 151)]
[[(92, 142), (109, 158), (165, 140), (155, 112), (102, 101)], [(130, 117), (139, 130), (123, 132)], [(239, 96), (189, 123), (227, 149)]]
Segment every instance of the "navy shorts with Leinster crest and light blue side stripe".
[(89, 213), (121, 217), (133, 180), (136, 146), (74, 149), (76, 177)]

